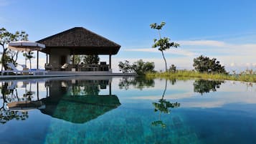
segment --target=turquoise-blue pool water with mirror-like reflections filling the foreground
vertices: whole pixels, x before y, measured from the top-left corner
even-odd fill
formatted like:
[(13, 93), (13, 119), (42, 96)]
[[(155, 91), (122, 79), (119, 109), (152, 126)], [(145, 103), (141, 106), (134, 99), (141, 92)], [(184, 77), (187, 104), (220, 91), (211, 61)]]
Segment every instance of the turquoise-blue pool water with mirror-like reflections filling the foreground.
[(256, 143), (254, 83), (1, 81), (0, 143)]

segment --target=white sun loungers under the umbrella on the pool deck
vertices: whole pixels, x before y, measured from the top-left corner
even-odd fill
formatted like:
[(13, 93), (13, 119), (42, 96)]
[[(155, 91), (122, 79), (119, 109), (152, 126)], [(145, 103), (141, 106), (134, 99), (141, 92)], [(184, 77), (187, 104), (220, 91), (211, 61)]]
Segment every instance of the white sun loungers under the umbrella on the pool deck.
[(12, 70), (3, 70), (1, 71), (1, 75), (4, 75), (4, 72), (7, 73), (7, 75), (9, 75), (9, 72), (13, 72), (15, 73), (15, 75), (18, 75), (18, 73), (20, 74), (24, 74), (24, 73), (28, 73), (28, 74), (33, 74), (33, 75), (36, 75), (37, 73), (42, 73), (43, 75), (45, 75), (45, 73), (47, 73), (47, 71), (45, 70), (39, 70), (39, 69), (35, 69), (35, 70), (32, 70), (32, 69), (27, 69), (27, 70), (19, 70), (19, 69), (16, 69), (15, 65), (11, 62), (7, 62), (8, 66), (12, 69)]

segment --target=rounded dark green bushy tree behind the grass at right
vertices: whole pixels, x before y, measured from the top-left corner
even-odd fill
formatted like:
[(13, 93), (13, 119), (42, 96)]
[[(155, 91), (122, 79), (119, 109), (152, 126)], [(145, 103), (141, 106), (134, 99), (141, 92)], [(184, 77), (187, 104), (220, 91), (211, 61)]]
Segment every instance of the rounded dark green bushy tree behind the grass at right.
[(227, 74), (224, 66), (219, 64), (219, 61), (217, 61), (216, 58), (210, 59), (209, 57), (204, 57), (201, 55), (194, 59), (193, 66), (198, 72)]

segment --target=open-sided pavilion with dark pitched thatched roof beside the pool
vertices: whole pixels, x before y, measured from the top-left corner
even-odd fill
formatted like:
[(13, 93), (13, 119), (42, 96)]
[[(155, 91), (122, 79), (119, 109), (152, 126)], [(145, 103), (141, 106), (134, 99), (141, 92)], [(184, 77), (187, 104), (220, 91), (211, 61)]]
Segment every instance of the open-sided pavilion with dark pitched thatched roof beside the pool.
[[(99, 70), (109, 70), (111, 71), (111, 56), (117, 54), (120, 45), (115, 42), (106, 39), (94, 32), (83, 27), (74, 27), (68, 29), (64, 32), (54, 34), (50, 37), (46, 37), (37, 41), (39, 43), (45, 44), (45, 49), (42, 49), (40, 52), (47, 54), (47, 64), (51, 66), (51, 70), (59, 71), (64, 64), (70, 64), (70, 67), (77, 68), (75, 64), (71, 64), (70, 56), (71, 55), (80, 55), (80, 54), (97, 54), (97, 55), (109, 55), (109, 63), (100, 62), (96, 65), (87, 65), (82, 66), (84, 69), (76, 69), (78, 71), (99, 71)], [(38, 53), (37, 53), (38, 56)], [(74, 58), (74, 57), (73, 57)], [(73, 61), (74, 62), (74, 59)], [(100, 65), (104, 64), (104, 67)], [(38, 60), (37, 60), (38, 65)], [(92, 69), (93, 67), (98, 67)], [(100, 69), (106, 68), (107, 69)], [(70, 69), (65, 69), (70, 70)]]

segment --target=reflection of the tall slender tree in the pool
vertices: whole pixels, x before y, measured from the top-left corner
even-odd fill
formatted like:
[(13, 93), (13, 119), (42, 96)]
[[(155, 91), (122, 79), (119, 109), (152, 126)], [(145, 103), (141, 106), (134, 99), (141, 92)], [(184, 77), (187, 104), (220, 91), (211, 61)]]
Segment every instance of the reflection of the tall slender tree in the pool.
[[(176, 81), (171, 81), (172, 84), (174, 84)], [(175, 108), (175, 107), (179, 107), (181, 104), (178, 103), (178, 102), (174, 102), (174, 103), (171, 103), (165, 99), (163, 99), (165, 93), (166, 93), (166, 87), (167, 87), (167, 80), (166, 80), (166, 83), (165, 83), (165, 87), (164, 87), (164, 90), (163, 90), (163, 95), (162, 95), (162, 98), (160, 100), (158, 100), (158, 102), (153, 102), (153, 106), (155, 107), (154, 111), (155, 112), (158, 112), (159, 111), (159, 120), (156, 120), (156, 121), (153, 121), (151, 123), (151, 125), (153, 126), (157, 126), (157, 125), (160, 125), (161, 128), (166, 128), (166, 124), (163, 123), (163, 121), (161, 120), (161, 113), (170, 113), (171, 112), (171, 108)]]

